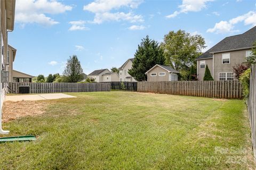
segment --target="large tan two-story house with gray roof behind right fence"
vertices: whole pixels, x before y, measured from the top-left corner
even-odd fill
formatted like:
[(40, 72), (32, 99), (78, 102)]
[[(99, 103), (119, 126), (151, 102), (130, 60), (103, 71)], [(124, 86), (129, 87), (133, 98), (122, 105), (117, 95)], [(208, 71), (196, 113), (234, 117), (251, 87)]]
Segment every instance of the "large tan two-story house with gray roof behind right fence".
[(233, 66), (246, 62), (256, 41), (256, 27), (226, 37), (197, 58), (197, 79), (203, 80), (208, 65), (214, 80), (234, 80)]

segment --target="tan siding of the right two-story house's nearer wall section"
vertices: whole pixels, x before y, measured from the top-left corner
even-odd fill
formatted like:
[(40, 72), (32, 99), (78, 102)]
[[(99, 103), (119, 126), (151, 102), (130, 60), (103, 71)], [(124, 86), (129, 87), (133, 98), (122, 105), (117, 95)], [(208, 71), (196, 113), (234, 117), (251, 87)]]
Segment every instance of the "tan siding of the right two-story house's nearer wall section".
[[(247, 49), (248, 50), (248, 49)], [(222, 54), (214, 54), (214, 80), (219, 80), (219, 73), (233, 72), (233, 66), (245, 62), (246, 50), (237, 50), (230, 53), (230, 64), (222, 64)]]

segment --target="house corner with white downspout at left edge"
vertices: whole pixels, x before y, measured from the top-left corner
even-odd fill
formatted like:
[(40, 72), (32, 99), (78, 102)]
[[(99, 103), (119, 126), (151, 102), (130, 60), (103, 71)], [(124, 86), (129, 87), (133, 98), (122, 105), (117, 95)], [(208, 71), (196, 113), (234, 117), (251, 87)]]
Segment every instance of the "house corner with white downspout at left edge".
[(0, 74), (0, 134), (8, 134), (9, 131), (2, 129), (2, 109), (6, 95), (7, 81), (6, 73), (8, 73), (7, 50), (8, 50), (8, 32), (14, 29), (15, 0), (0, 1), (0, 41), (1, 41), (1, 74)]

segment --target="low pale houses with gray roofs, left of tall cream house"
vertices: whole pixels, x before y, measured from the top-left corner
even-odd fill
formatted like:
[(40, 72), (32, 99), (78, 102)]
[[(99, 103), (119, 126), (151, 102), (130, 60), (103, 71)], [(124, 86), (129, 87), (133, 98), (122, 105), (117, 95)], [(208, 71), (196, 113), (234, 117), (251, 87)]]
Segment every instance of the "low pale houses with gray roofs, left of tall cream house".
[(108, 69), (94, 70), (87, 77), (95, 79), (96, 82), (119, 81), (118, 74)]

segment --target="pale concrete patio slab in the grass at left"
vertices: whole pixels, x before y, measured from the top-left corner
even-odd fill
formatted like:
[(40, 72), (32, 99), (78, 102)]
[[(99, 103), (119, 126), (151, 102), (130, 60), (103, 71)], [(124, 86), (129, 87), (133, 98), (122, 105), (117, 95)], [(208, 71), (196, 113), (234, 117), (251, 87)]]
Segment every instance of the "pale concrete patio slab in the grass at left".
[(61, 98), (73, 98), (75, 96), (66, 94), (40, 94), (40, 95), (14, 95), (6, 96), (5, 101), (33, 101), (33, 100), (50, 100), (50, 99), (61, 99)]

